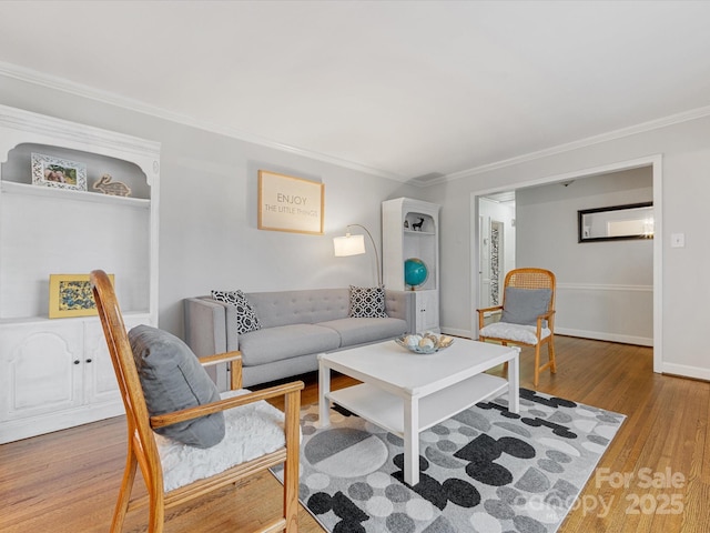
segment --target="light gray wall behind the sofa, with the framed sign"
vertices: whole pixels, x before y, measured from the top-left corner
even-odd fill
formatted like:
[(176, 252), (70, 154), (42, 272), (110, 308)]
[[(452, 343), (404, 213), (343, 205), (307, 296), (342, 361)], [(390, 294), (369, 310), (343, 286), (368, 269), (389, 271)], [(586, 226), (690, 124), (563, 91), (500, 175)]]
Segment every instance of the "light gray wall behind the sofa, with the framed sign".
[[(361, 223), (382, 251), (381, 202), (402, 195), (416, 198), (422, 192), (11, 78), (0, 77), (0, 102), (162, 143), (160, 326), (179, 335), (183, 332), (182, 300), (212, 289), (375, 284), (369, 243), (365, 255), (335, 258), (333, 237), (345, 234), (348, 223)], [(256, 228), (260, 169), (325, 183), (324, 235)]]

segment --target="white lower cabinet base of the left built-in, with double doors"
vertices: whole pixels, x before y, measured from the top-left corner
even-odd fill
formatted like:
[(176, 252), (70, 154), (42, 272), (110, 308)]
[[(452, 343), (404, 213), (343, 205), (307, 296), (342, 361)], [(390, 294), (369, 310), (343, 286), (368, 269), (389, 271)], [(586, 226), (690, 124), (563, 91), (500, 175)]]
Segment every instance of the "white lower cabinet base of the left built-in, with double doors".
[(0, 443), (123, 413), (98, 318), (0, 323)]

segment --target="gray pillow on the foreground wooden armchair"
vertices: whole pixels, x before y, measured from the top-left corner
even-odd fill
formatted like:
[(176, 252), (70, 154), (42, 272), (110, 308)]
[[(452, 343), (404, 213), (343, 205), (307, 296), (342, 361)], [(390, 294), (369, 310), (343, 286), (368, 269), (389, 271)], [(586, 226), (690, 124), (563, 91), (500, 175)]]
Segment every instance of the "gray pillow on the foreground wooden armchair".
[[(129, 331), (129, 341), (151, 416), (220, 400), (216, 385), (195, 354), (175, 335), (138, 325)], [(224, 438), (224, 414), (158, 428), (155, 433), (191, 446), (214, 446)]]

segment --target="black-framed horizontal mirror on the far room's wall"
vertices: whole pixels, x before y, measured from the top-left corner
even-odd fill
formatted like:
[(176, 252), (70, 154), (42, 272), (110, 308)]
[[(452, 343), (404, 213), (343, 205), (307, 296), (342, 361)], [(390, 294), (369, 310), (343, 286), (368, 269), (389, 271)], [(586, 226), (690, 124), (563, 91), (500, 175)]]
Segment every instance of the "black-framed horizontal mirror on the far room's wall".
[(653, 239), (653, 203), (577, 211), (579, 242)]

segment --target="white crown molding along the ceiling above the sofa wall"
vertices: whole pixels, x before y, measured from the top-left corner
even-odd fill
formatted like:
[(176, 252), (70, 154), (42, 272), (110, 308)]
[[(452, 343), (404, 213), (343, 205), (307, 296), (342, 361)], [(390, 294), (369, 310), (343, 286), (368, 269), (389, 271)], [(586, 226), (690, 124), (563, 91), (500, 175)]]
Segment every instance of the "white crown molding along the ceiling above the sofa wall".
[(406, 181), (404, 177), (395, 174), (393, 172), (387, 172), (382, 169), (375, 169), (372, 167), (367, 167), (366, 164), (348, 161), (333, 155), (327, 155), (325, 153), (320, 153), (298, 147), (292, 147), (288, 144), (284, 144), (283, 142), (274, 141), (273, 139), (246, 133), (233, 128), (225, 128), (213, 122), (195, 120), (184, 114), (174, 113), (156, 105), (141, 102), (140, 100), (126, 98), (110, 91), (94, 89), (82, 83), (77, 83), (63, 78), (47, 74), (32, 69), (27, 69), (24, 67), (19, 67), (17, 64), (0, 61), (0, 74), (49, 89), (67, 92), (69, 94), (87, 98), (101, 103), (106, 103), (109, 105), (115, 105), (122, 109), (128, 109), (130, 111), (136, 111), (139, 113), (155, 117), (158, 119), (169, 120), (171, 122), (176, 122), (212, 133), (217, 133), (240, 141), (251, 142), (261, 147), (272, 148), (274, 150), (293, 153), (295, 155), (314, 159), (316, 161), (335, 164), (337, 167), (355, 170), (358, 172), (364, 172), (366, 174), (376, 175), (378, 178), (386, 178), (388, 180), (399, 182)]

